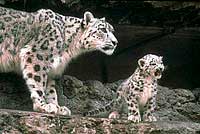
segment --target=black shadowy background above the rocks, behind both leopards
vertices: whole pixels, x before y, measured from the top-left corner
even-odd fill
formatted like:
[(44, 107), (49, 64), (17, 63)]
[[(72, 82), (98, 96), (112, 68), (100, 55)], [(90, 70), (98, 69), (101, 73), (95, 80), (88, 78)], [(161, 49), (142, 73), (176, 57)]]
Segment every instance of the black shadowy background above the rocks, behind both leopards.
[[(63, 0), (64, 1), (64, 0)], [(0, 0), (4, 7), (33, 12), (49, 8), (82, 17), (91, 11), (106, 17), (119, 41), (112, 56), (91, 52), (73, 60), (66, 74), (104, 83), (129, 77), (138, 58), (162, 55), (167, 66), (160, 84), (173, 88), (200, 87), (200, 2), (118, 0)]]

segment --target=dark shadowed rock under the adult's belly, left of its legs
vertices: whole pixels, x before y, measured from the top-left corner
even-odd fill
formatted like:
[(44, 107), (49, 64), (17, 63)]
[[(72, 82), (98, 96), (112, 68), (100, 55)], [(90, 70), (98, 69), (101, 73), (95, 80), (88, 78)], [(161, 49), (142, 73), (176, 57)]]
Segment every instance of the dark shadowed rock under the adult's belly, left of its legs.
[(0, 108), (32, 110), (30, 94), (21, 76), (0, 75)]

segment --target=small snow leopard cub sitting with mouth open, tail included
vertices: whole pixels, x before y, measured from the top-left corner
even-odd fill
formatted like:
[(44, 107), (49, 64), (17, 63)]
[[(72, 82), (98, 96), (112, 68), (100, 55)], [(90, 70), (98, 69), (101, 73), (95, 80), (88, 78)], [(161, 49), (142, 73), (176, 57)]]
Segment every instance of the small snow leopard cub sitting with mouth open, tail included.
[[(157, 80), (164, 71), (162, 57), (148, 54), (138, 60), (135, 72), (118, 88), (114, 99), (102, 108), (84, 113), (95, 116), (107, 111), (109, 118), (119, 118), (119, 112), (128, 110), (128, 120), (140, 122), (143, 112), (144, 121), (156, 121), (153, 112), (156, 107)], [(126, 107), (123, 106), (123, 101)]]

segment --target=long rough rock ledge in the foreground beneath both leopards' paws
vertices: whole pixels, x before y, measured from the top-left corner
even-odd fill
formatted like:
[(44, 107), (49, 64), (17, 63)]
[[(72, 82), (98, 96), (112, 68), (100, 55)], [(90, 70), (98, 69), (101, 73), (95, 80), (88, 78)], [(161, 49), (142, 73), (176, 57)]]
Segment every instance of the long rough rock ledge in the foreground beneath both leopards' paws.
[(51, 114), (0, 110), (0, 133), (71, 133), (71, 134), (197, 134), (200, 124), (192, 122), (160, 121), (134, 124), (127, 120), (105, 118), (66, 117)]

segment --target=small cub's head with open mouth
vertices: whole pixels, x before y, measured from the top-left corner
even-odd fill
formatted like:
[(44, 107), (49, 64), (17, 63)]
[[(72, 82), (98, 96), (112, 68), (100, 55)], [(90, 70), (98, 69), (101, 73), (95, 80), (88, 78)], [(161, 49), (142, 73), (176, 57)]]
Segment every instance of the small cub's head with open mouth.
[(161, 56), (148, 54), (138, 61), (139, 67), (149, 75), (160, 79), (164, 71), (164, 64)]

